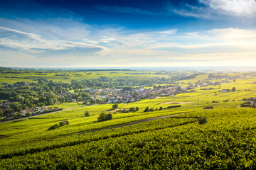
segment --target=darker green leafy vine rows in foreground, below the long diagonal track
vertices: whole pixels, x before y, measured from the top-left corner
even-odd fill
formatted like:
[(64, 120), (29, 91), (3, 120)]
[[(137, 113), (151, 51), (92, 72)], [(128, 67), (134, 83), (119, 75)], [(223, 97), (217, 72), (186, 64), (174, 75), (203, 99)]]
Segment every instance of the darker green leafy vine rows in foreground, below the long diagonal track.
[(188, 113), (7, 152), (1, 169), (254, 169), (255, 120), (252, 109)]

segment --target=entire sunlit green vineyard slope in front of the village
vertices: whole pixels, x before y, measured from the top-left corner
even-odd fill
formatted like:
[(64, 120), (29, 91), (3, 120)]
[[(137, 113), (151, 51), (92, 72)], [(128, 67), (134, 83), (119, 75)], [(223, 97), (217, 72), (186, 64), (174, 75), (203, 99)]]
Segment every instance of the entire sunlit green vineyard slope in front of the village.
[[(254, 81), (118, 105), (134, 113), (63, 103), (74, 109), (1, 123), (0, 169), (255, 169), (256, 110), (240, 107), (256, 97)], [(99, 122), (100, 113), (112, 119)]]

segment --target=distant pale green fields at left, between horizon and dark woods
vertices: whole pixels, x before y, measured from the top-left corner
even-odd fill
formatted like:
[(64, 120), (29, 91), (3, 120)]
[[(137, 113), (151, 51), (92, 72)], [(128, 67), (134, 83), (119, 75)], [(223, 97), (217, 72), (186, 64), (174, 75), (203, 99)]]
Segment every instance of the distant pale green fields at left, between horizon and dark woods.
[[(129, 79), (129, 78), (151, 78), (151, 77), (166, 77), (172, 74), (180, 74), (173, 72), (170, 74), (156, 74), (157, 72), (149, 71), (99, 71), (99, 72), (25, 72), (5, 73), (0, 72), (0, 83), (14, 84), (17, 81), (32, 82), (33, 80), (43, 78), (53, 81), (62, 81), (70, 83), (71, 80), (83, 79), (98, 79), (99, 77), (109, 77), (111, 79)], [(189, 72), (188, 72), (189, 74)]]

